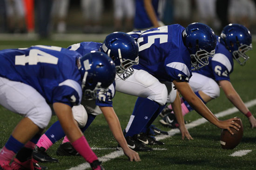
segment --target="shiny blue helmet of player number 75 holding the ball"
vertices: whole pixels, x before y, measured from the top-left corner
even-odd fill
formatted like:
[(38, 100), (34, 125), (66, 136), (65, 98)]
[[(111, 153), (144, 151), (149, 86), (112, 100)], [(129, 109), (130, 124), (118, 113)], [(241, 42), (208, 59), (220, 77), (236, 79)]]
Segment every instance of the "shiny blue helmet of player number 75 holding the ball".
[(182, 32), (184, 45), (189, 49), (192, 70), (209, 64), (208, 58), (213, 57), (216, 47), (216, 35), (205, 24), (192, 23)]

